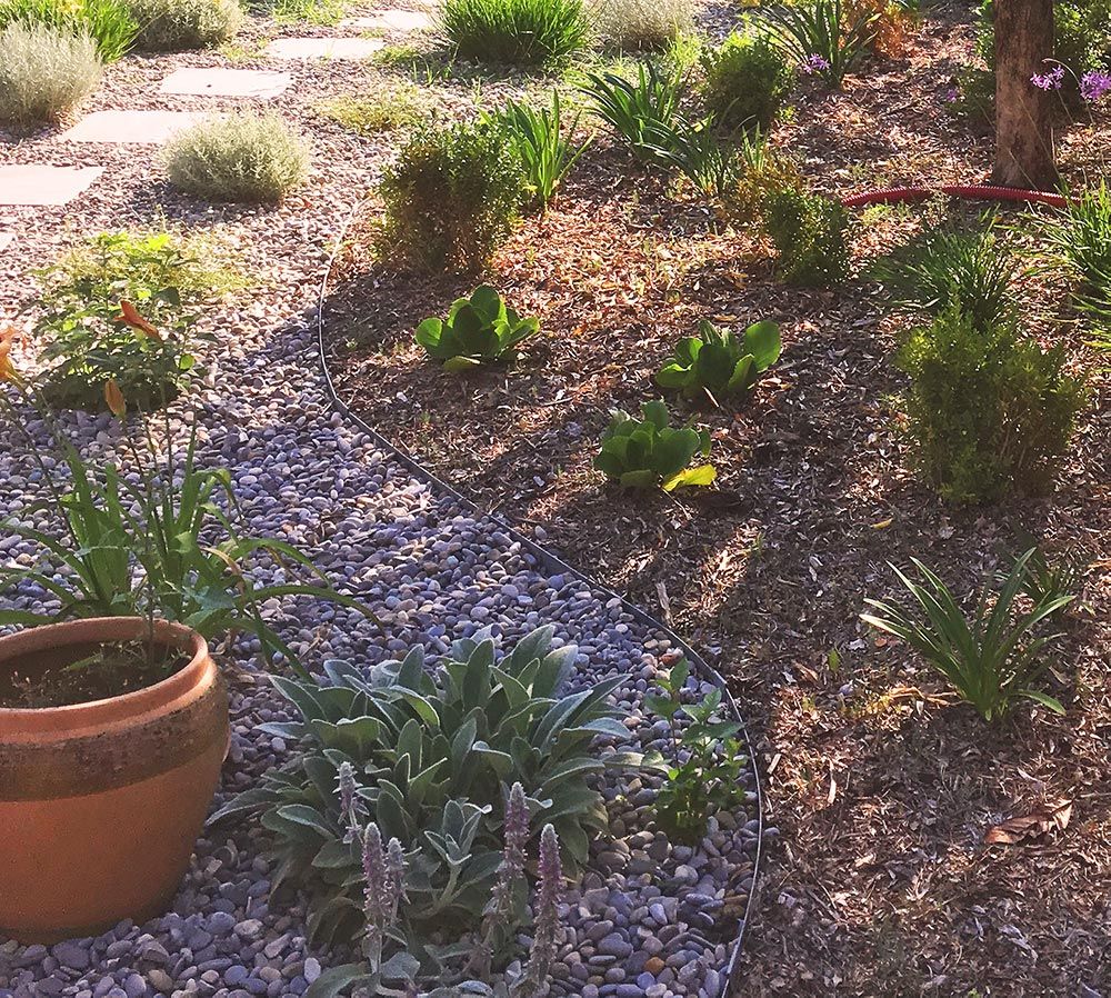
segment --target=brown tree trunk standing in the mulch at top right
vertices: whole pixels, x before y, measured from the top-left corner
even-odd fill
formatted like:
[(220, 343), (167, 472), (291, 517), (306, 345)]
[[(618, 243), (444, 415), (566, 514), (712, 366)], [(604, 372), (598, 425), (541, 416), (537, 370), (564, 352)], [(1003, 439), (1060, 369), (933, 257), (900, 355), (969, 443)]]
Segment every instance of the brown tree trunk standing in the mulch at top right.
[(995, 0), (995, 170), (1007, 187), (1049, 190), (1053, 163), (1054, 91), (1030, 82), (1053, 63), (1053, 0)]

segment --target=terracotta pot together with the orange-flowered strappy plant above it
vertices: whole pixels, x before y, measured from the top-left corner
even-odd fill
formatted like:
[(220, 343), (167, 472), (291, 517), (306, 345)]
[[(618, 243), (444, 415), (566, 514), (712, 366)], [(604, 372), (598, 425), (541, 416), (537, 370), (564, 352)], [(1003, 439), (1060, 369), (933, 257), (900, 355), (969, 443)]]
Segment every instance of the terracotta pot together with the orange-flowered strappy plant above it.
[[(168, 418), (161, 458), (114, 381), (104, 397), (124, 425), (127, 468), (87, 462), (43, 410), (61, 457), (48, 462), (22, 427), (36, 396), (11, 363), (14, 336), (0, 330), (0, 410), (47, 498), (3, 525), (42, 557), (0, 567), (0, 586), (24, 597), (16, 606), (32, 603), (0, 610), (0, 625), (24, 627), (0, 637), (0, 935), (50, 941), (141, 920), (172, 898), (230, 737), (209, 640), (248, 631), (296, 662), (263, 601), (362, 607), (289, 545), (242, 535), (228, 472), (197, 462), (196, 437), (176, 451)], [(41, 513), (59, 530), (28, 526)], [(256, 588), (260, 557), (321, 585)]]

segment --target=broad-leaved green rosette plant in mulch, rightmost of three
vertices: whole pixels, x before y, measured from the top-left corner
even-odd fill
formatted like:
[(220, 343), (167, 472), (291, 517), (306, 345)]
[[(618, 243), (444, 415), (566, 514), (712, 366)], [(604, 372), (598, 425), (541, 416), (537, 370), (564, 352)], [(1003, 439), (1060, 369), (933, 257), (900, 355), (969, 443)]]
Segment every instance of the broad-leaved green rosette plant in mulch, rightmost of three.
[(760, 375), (779, 360), (781, 350), (775, 322), (753, 322), (738, 338), (732, 330), (722, 331), (703, 319), (699, 335), (679, 341), (655, 381), (688, 398), (704, 396), (718, 406), (727, 395), (747, 397)]

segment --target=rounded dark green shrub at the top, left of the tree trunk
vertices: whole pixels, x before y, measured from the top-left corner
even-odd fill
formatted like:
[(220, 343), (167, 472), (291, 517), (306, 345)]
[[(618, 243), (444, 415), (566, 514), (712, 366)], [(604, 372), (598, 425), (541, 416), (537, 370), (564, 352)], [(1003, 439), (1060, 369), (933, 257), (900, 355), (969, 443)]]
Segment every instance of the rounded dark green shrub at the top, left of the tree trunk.
[(767, 131), (794, 86), (794, 72), (767, 34), (729, 36), (702, 56), (703, 98), (718, 124)]

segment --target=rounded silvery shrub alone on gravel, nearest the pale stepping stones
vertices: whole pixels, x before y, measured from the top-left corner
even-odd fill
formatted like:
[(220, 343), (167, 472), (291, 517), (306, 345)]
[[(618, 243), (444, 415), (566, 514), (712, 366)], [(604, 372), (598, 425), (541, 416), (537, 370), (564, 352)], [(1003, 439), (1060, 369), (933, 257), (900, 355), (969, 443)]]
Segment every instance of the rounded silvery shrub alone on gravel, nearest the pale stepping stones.
[(276, 203), (309, 176), (309, 150), (278, 114), (212, 117), (166, 146), (170, 183), (212, 201)]

